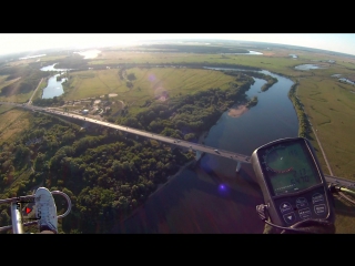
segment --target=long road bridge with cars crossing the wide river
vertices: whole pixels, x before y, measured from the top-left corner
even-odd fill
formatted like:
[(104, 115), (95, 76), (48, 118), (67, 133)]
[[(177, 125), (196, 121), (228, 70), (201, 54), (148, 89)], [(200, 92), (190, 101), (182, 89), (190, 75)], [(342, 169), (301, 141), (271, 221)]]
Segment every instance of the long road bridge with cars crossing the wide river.
[[(57, 115), (60, 115), (60, 116), (65, 116), (65, 117), (70, 117), (70, 119), (77, 119), (77, 120), (90, 122), (90, 123), (93, 123), (93, 124), (111, 127), (111, 129), (114, 129), (114, 130), (118, 130), (118, 131), (122, 131), (122, 132), (125, 132), (126, 134), (130, 133), (130, 134), (134, 134), (134, 135), (138, 135), (138, 136), (148, 137), (148, 139), (151, 139), (151, 140), (156, 140), (158, 142), (164, 142), (164, 143), (170, 144), (172, 147), (173, 146), (181, 146), (181, 147), (185, 147), (185, 149), (191, 149), (191, 150), (193, 150), (195, 152), (200, 152), (200, 154), (210, 153), (210, 154), (213, 154), (213, 155), (216, 155), (216, 156), (226, 157), (226, 158), (230, 158), (230, 160), (233, 160), (233, 161), (236, 162), (236, 170), (235, 170), (236, 172), (239, 172), (241, 170), (242, 163), (251, 163), (251, 157), (247, 156), (247, 155), (244, 155), (244, 154), (233, 153), (233, 152), (229, 152), (229, 151), (224, 151), (224, 150), (206, 146), (206, 145), (199, 144), (199, 143), (192, 143), (192, 142), (182, 141), (182, 140), (170, 137), (170, 136), (154, 134), (154, 133), (151, 133), (151, 132), (136, 130), (136, 129), (129, 127), (129, 126), (125, 126), (125, 125), (119, 125), (119, 124), (113, 124), (113, 123), (109, 123), (109, 122), (105, 122), (105, 121), (90, 119), (90, 117), (87, 117), (84, 115), (73, 114), (73, 113), (69, 113), (69, 112), (64, 112), (64, 111), (59, 111), (57, 109), (39, 108), (39, 106), (26, 104), (26, 103), (20, 104), (20, 103), (12, 103), (12, 102), (0, 102), (0, 104), (10, 104), (10, 105), (13, 105), (13, 106), (31, 110), (33, 112), (57, 114)], [(337, 177), (337, 176), (332, 176), (332, 175), (324, 175), (324, 177), (325, 177), (327, 183), (336, 184), (336, 185), (344, 186), (344, 187), (355, 188), (355, 182), (353, 182), (353, 181), (348, 181), (348, 180), (345, 180), (345, 178), (342, 178), (342, 177)]]

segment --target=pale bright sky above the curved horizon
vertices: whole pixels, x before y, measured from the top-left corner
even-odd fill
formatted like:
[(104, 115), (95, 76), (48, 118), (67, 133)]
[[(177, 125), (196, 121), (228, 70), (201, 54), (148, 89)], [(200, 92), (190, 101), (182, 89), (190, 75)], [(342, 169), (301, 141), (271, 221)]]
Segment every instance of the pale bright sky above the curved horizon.
[(0, 33), (0, 55), (51, 48), (129, 45), (162, 39), (220, 39), (317, 48), (355, 55), (355, 33)]

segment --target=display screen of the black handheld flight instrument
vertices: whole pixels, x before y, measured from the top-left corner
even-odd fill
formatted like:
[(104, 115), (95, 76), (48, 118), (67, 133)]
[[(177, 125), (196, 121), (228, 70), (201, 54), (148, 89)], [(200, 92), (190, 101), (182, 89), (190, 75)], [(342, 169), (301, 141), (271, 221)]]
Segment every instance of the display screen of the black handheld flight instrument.
[(303, 140), (276, 143), (257, 153), (274, 196), (301, 192), (322, 183), (311, 151)]

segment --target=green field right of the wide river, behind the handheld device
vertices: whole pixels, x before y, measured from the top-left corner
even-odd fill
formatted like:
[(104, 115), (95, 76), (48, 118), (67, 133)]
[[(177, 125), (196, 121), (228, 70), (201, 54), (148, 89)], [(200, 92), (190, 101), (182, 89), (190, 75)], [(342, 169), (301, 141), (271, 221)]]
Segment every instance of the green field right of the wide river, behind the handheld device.
[(300, 80), (297, 92), (317, 130), (333, 174), (355, 180), (355, 94), (352, 90), (353, 85), (334, 78), (312, 76)]

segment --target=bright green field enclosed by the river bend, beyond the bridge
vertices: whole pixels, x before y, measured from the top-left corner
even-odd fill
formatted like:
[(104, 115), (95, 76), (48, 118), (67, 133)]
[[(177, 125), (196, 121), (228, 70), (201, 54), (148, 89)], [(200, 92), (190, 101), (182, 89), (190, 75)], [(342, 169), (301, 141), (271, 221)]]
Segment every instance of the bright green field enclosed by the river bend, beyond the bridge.
[(126, 73), (134, 73), (133, 88), (126, 86), (125, 80), (120, 80), (118, 69), (100, 71), (73, 72), (70, 75), (70, 89), (65, 100), (79, 100), (116, 93), (115, 99), (122, 100), (134, 109), (144, 104), (146, 100), (160, 96), (163, 91), (169, 96), (179, 93), (195, 93), (210, 88), (227, 88), (234, 78), (217, 71), (200, 69), (174, 69), (174, 68), (133, 68)]

